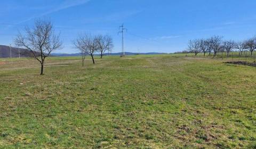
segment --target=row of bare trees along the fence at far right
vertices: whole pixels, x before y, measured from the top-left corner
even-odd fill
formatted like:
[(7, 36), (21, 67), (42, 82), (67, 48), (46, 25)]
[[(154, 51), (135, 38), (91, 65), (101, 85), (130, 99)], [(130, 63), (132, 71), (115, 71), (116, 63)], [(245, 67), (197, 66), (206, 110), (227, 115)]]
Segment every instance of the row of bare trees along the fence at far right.
[(256, 37), (244, 40), (243, 42), (235, 42), (234, 40), (222, 40), (222, 36), (213, 36), (208, 39), (195, 39), (189, 40), (188, 42), (188, 52), (203, 53), (204, 56), (206, 53), (213, 56), (216, 56), (218, 52), (226, 52), (227, 56), (230, 52), (239, 51), (241, 55), (245, 50), (250, 51), (251, 55), (256, 49)]

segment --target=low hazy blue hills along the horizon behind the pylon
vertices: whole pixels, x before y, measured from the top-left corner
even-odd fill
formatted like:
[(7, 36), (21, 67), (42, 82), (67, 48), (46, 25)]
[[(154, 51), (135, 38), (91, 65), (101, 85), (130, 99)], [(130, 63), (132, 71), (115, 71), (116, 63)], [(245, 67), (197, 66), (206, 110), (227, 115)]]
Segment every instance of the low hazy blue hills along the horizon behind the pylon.
[[(121, 55), (122, 53), (109, 53), (109, 55)], [(149, 52), (149, 53), (132, 53), (132, 52), (125, 52), (125, 55), (152, 55), (152, 54), (167, 54), (167, 53), (157, 53), (157, 52)], [(80, 53), (73, 53), (73, 54), (65, 54), (65, 53), (52, 53), (52, 56), (81, 56)], [(99, 55), (99, 54), (95, 54)], [(107, 55), (106, 53), (104, 55)]]

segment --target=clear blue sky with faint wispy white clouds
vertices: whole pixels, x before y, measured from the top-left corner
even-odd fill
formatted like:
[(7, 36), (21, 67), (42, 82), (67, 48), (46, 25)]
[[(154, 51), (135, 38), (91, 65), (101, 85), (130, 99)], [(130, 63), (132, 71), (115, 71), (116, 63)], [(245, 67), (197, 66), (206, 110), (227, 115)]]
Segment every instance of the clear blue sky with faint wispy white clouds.
[(109, 34), (113, 52), (121, 51), (118, 26), (124, 23), (127, 52), (186, 49), (189, 39), (221, 35), (242, 40), (256, 35), (256, 1), (241, 0), (9, 0), (1, 2), (0, 44), (13, 44), (18, 30), (37, 18), (51, 19), (64, 48), (76, 53), (71, 40), (81, 32)]

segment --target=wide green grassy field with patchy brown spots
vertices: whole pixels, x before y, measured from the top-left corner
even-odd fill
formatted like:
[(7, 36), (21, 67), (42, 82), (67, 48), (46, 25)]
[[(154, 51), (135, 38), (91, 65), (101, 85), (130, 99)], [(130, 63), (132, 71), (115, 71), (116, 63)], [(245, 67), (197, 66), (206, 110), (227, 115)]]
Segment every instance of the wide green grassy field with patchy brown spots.
[(0, 148), (256, 148), (256, 68), (79, 59), (0, 59)]

